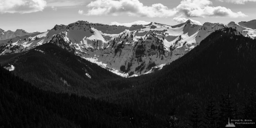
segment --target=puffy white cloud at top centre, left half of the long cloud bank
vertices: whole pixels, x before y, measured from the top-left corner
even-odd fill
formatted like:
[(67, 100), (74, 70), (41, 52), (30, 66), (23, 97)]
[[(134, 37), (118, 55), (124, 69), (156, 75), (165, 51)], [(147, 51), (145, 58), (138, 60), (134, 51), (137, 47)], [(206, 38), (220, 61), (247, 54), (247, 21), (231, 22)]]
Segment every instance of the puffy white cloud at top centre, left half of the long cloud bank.
[(170, 17), (176, 14), (163, 4), (145, 6), (139, 0), (96, 0), (87, 5), (86, 15), (127, 15), (137, 17)]

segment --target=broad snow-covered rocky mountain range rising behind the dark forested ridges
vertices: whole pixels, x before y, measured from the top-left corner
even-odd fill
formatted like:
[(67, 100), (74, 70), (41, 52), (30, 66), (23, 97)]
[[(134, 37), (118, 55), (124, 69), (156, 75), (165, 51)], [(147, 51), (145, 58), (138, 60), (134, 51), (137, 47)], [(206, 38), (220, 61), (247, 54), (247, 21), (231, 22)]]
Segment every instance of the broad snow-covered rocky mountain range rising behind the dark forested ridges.
[(44, 33), (2, 40), (0, 55), (55, 43), (118, 75), (137, 76), (161, 69), (221, 28), (236, 28), (244, 36), (256, 38), (254, 21), (238, 24), (206, 22), (201, 26), (188, 20), (175, 26), (151, 22), (131, 27), (77, 21), (69, 25), (55, 25)]

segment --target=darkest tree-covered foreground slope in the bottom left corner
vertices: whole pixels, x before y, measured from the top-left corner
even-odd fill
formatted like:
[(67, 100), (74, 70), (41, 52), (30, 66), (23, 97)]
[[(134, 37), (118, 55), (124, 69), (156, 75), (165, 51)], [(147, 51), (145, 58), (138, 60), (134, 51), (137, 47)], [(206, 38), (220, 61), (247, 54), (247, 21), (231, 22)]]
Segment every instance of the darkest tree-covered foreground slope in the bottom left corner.
[(164, 127), (145, 112), (67, 93), (43, 91), (0, 68), (1, 128)]

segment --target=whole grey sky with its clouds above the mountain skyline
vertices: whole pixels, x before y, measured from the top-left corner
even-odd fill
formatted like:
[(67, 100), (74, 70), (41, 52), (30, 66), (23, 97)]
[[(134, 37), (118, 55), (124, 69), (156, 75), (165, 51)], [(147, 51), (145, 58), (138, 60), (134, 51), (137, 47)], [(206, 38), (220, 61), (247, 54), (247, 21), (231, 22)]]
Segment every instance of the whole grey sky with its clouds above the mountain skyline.
[(0, 0), (0, 28), (44, 32), (78, 20), (131, 26), (256, 19), (256, 0)]

